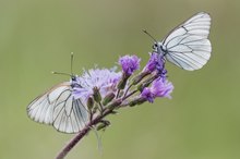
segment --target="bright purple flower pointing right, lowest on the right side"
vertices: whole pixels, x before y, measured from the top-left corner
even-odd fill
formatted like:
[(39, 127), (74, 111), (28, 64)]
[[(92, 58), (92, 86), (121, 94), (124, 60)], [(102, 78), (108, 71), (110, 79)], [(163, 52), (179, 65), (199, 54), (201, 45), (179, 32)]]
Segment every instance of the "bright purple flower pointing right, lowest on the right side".
[(173, 90), (173, 85), (166, 78), (157, 78), (153, 82), (151, 87), (146, 87), (141, 93), (141, 97), (149, 102), (153, 102), (156, 97), (171, 98), (170, 94)]

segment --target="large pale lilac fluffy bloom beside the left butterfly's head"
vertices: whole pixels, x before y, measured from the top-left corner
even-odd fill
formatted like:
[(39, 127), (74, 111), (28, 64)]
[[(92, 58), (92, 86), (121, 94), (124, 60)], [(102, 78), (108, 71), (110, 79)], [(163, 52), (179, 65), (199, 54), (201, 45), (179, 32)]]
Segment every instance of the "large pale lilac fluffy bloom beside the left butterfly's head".
[(116, 85), (120, 78), (121, 72), (115, 72), (107, 69), (92, 69), (85, 71), (83, 75), (76, 77), (76, 81), (73, 83), (73, 97), (75, 99), (81, 98), (86, 102), (89, 96), (94, 94), (94, 87), (97, 87), (100, 95), (105, 97), (107, 94), (117, 90)]

